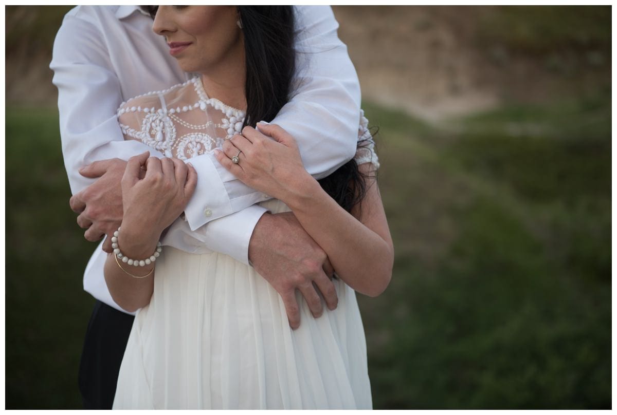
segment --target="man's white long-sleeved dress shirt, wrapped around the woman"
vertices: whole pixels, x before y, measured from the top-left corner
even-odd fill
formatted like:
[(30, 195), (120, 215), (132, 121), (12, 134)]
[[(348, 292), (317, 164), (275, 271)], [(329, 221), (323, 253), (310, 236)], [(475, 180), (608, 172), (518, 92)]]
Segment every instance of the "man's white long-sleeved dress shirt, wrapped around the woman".
[[(360, 86), (347, 47), (336, 34), (338, 23), (327, 6), (296, 6), (298, 85), (272, 123), (298, 143), (304, 166), (323, 178), (354, 157)], [(96, 160), (122, 158), (149, 150), (124, 140), (116, 110), (123, 101), (182, 83), (184, 73), (152, 19), (137, 6), (78, 6), (65, 15), (54, 42), (50, 65), (58, 88), (62, 152), (73, 194), (93, 183), (79, 168)], [(197, 188), (184, 214), (162, 240), (191, 253), (211, 250), (248, 263), (249, 240), (266, 210), (255, 203), (268, 198), (242, 184), (213, 155), (189, 160)], [(107, 254), (101, 246), (90, 258), (84, 289), (122, 310), (112, 300), (103, 276)]]

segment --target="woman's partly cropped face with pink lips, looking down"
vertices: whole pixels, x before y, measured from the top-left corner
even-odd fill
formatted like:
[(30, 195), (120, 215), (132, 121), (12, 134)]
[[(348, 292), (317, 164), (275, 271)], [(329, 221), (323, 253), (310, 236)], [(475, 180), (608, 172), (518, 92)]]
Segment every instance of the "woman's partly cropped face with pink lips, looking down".
[(244, 56), (234, 6), (159, 6), (152, 30), (165, 36), (184, 72), (207, 73)]

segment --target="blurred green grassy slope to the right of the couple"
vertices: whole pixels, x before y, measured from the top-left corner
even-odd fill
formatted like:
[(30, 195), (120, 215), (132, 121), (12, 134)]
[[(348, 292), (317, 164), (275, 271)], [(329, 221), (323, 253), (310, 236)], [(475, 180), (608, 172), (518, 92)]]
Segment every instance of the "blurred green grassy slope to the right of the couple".
[(610, 91), (441, 128), (365, 107), (396, 250), (361, 299), (375, 408), (610, 408)]

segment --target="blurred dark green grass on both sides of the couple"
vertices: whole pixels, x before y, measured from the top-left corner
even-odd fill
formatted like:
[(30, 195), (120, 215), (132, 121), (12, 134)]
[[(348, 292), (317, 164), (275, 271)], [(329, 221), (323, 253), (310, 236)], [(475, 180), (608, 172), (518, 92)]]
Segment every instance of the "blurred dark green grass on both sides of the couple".
[[(610, 408), (610, 94), (439, 127), (365, 110), (396, 252), (358, 296), (375, 408)], [(56, 112), (9, 109), (6, 136), (6, 407), (79, 408), (94, 245)]]

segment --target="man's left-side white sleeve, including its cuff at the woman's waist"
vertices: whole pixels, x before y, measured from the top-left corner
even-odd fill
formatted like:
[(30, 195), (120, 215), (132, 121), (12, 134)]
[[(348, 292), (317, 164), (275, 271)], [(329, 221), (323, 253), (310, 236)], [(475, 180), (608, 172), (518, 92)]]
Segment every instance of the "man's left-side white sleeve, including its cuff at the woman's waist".
[[(91, 23), (67, 15), (54, 41), (50, 67), (58, 88), (62, 154), (73, 194), (94, 182), (79, 174), (81, 166), (114, 157), (128, 160), (146, 150), (162, 157), (142, 142), (123, 138), (117, 120), (122, 89), (103, 38)], [(197, 169), (198, 180), (205, 174)], [(164, 242), (186, 252), (223, 252), (248, 263), (249, 240), (264, 212), (262, 207), (252, 207), (220, 223), (213, 222), (212, 229), (197, 229), (195, 234), (188, 226), (179, 226), (172, 232), (174, 237), (166, 236)]]

